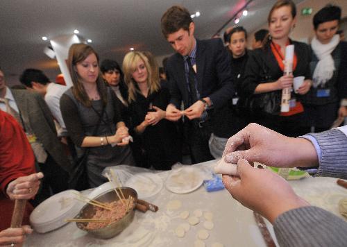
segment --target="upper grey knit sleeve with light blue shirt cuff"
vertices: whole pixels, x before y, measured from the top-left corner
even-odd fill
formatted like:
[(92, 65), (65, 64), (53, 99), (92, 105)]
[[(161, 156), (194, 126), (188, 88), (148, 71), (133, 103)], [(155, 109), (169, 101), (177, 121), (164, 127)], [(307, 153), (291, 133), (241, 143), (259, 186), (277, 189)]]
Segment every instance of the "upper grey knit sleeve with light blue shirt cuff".
[(321, 147), (321, 157), (316, 176), (347, 179), (346, 135), (338, 129), (307, 135), (314, 137)]

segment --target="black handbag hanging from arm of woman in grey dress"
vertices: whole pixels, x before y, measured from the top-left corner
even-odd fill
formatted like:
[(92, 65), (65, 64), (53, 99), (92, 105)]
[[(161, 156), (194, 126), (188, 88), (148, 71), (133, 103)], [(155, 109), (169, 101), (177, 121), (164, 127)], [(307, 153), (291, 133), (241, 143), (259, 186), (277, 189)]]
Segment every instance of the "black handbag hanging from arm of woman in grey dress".
[[(103, 106), (103, 110), (101, 115), (99, 116), (99, 122), (94, 129), (93, 136), (96, 135), (97, 130), (99, 129), (100, 123), (102, 121), (103, 113), (105, 112), (105, 106)], [(87, 173), (87, 157), (90, 152), (90, 148), (85, 148), (85, 152), (81, 157), (77, 157), (76, 149), (73, 148), (74, 152), (71, 152), (71, 155), (74, 159), (74, 168), (70, 174), (70, 178), (68, 181), (68, 185), (70, 189), (76, 189), (78, 191), (84, 189), (90, 189), (89, 178)]]

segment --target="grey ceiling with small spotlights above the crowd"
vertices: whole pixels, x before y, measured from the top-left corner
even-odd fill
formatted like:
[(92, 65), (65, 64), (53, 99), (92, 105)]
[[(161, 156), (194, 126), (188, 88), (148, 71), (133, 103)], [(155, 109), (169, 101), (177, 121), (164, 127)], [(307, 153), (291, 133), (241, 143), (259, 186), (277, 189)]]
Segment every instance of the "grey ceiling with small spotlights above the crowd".
[[(302, 0), (296, 0), (298, 3)], [(101, 59), (121, 63), (130, 47), (151, 51), (155, 56), (172, 52), (160, 31), (160, 18), (175, 4), (190, 12), (200, 11), (194, 19), (196, 37), (211, 37), (247, 0), (1, 0), (0, 67), (10, 84), (17, 83), (26, 68), (42, 69), (51, 80), (60, 73), (56, 60), (43, 53), (49, 41), (78, 29), (91, 39)], [(240, 26), (249, 33), (266, 22), (275, 0), (253, 0), (248, 16)], [(229, 25), (230, 26), (230, 25)]]

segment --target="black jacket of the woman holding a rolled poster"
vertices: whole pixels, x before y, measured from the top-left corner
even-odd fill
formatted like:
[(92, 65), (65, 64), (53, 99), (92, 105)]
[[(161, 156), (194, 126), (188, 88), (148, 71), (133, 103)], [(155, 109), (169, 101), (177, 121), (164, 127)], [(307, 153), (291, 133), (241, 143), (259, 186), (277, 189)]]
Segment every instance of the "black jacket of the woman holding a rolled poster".
[[(298, 60), (296, 69), (293, 71), (294, 77), (305, 76), (305, 79), (311, 79), (310, 74), (310, 47), (302, 42), (291, 41), (294, 44), (294, 51)], [(255, 49), (250, 54), (245, 71), (245, 78), (241, 84), (239, 94), (245, 97), (251, 97), (254, 94), (255, 87), (260, 83), (275, 82), (283, 76), (278, 62), (271, 51), (270, 44), (263, 48)], [(281, 90), (277, 90), (281, 94)]]

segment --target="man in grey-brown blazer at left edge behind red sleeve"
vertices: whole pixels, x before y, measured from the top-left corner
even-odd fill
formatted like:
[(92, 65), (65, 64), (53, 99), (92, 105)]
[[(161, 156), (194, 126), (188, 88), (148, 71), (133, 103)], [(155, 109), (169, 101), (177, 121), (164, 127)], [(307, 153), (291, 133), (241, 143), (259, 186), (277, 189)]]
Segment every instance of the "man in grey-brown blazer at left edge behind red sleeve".
[(53, 117), (40, 94), (6, 87), (0, 69), (0, 108), (13, 115), (22, 125), (35, 153), (35, 159), (44, 173), (42, 191), (37, 202), (68, 189), (67, 180), (71, 164), (60, 143)]

